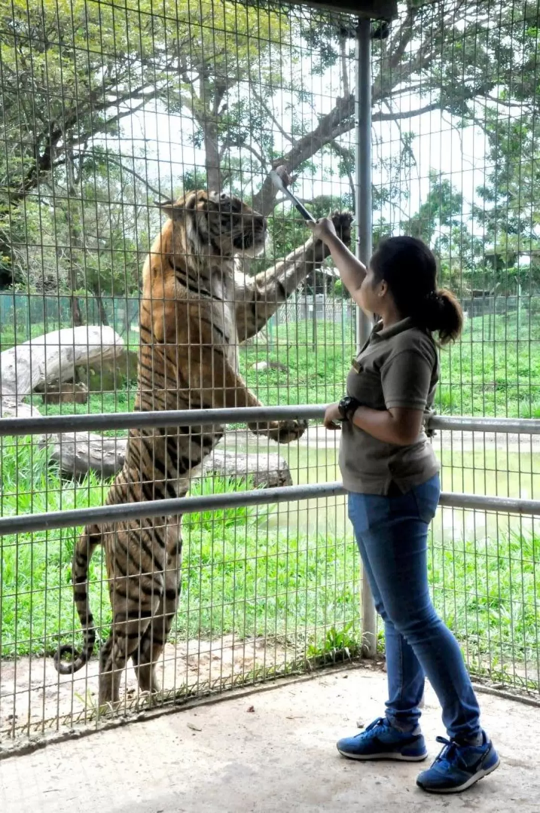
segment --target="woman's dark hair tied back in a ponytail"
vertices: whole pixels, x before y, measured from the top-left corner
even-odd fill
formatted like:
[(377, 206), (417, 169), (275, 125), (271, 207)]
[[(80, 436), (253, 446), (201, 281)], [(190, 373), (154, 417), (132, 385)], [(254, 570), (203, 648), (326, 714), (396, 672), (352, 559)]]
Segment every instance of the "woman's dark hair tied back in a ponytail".
[(438, 333), (442, 345), (455, 341), (463, 328), (463, 311), (451, 291), (437, 287), (437, 261), (416, 237), (381, 241), (370, 260), (377, 282), (385, 280), (400, 315), (419, 328)]

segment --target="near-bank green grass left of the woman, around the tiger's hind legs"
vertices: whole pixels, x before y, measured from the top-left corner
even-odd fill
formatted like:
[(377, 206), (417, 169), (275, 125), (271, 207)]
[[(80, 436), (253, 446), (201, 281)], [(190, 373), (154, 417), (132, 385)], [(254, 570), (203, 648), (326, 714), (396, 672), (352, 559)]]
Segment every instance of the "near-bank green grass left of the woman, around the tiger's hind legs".
[[(56, 510), (98, 505), (102, 486), (88, 478), (76, 489), (46, 472), (44, 453), (29, 442), (2, 455), (2, 513)], [(15, 478), (16, 467), (20, 475)], [(33, 488), (32, 485), (33, 484)], [(204, 480), (192, 493), (236, 491), (233, 480)], [(244, 483), (243, 487), (249, 487)], [(62, 500), (60, 502), (60, 496)], [(48, 503), (48, 504), (46, 504)], [(313, 625), (345, 623), (357, 615), (355, 567), (351, 542), (287, 539), (284, 532), (268, 534), (268, 509), (237, 508), (213, 514), (186, 515), (181, 609), (176, 634), (181, 637), (248, 635), (307, 635)], [(55, 650), (76, 631), (70, 572), (73, 546), (80, 528), (6, 536), (1, 540), (0, 589), (2, 655)], [(333, 579), (329, 578), (330, 572)], [(110, 624), (102, 556), (94, 555), (90, 600), (98, 624)], [(337, 584), (336, 584), (337, 580)], [(62, 635), (63, 633), (63, 635)]]

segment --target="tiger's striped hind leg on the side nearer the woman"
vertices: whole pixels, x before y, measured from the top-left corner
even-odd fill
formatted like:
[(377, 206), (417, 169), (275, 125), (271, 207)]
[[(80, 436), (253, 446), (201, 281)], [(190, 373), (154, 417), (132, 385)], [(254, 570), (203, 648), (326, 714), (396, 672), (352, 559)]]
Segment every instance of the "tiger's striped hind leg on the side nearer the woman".
[(140, 645), (131, 655), (139, 689), (142, 692), (159, 691), (155, 666), (167, 643), (180, 598), (182, 563), (180, 517), (176, 517), (167, 525), (167, 550), (168, 560), (164, 573), (163, 595), (150, 624), (141, 637)]

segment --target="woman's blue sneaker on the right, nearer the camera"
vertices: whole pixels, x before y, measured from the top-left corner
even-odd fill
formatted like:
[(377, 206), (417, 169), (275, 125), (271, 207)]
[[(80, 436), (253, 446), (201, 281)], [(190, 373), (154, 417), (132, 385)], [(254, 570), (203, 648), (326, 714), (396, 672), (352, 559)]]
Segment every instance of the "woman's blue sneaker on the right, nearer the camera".
[(460, 745), (444, 737), (437, 741), (444, 746), (441, 753), (416, 780), (416, 785), (430, 793), (459, 793), (499, 767), (499, 755), (485, 732), (480, 746)]

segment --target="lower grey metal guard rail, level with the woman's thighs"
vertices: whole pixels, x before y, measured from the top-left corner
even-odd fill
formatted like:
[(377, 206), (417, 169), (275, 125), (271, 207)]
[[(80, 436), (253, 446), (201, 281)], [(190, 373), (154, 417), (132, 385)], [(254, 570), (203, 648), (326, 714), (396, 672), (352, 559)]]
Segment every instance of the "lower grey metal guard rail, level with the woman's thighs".
[[(0, 518), (0, 537), (8, 533), (32, 533), (53, 528), (70, 528), (100, 522), (139, 520), (154, 516), (193, 514), (196, 511), (216, 511), (218, 508), (268, 505), (273, 502), (291, 502), (340, 496), (346, 493), (340, 482), (312, 485), (287, 485), (274, 489), (254, 489), (225, 494), (204, 494), (200, 497), (180, 497), (151, 502), (129, 502), (124, 505), (76, 508), (71, 511), (49, 511)], [(464, 508), (494, 511), (503, 514), (540, 515), (540, 500), (487, 497), (483, 494), (442, 492), (439, 504), (446, 508)]]

